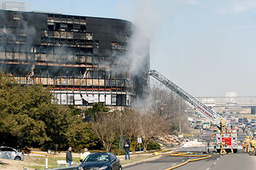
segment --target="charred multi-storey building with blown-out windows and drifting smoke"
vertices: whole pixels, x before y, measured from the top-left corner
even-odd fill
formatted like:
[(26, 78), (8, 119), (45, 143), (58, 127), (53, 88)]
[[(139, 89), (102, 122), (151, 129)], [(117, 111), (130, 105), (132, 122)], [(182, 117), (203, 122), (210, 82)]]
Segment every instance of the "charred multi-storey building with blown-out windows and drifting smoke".
[(50, 87), (61, 105), (131, 106), (148, 94), (149, 46), (131, 73), (126, 20), (0, 10), (0, 71)]

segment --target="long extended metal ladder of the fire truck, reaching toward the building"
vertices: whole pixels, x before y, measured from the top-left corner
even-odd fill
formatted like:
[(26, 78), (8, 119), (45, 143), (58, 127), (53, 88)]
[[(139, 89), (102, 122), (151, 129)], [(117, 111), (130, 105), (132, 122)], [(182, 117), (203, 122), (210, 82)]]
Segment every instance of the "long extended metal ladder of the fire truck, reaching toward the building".
[[(175, 94), (179, 95), (182, 99), (189, 102), (190, 105), (195, 107), (195, 109), (212, 122), (213, 124), (219, 125), (221, 116), (218, 115), (215, 111), (212, 111), (207, 105), (204, 105), (198, 99), (195, 99), (192, 95), (185, 92), (182, 88), (179, 88), (175, 83), (168, 80), (166, 77), (162, 76), (158, 71), (152, 70), (148, 72), (148, 75), (154, 77), (156, 80), (161, 82), (166, 86), (166, 88), (170, 88)], [(228, 122), (230, 125), (230, 123)]]

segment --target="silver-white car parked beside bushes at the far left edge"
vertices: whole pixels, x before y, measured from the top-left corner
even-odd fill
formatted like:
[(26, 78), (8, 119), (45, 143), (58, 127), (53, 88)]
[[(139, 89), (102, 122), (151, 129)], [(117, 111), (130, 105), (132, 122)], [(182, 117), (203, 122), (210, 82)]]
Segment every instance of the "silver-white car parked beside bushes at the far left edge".
[(24, 156), (22, 152), (15, 150), (14, 148), (8, 146), (1, 146), (0, 147), (0, 158), (2, 159), (13, 159), (18, 161), (23, 161)]

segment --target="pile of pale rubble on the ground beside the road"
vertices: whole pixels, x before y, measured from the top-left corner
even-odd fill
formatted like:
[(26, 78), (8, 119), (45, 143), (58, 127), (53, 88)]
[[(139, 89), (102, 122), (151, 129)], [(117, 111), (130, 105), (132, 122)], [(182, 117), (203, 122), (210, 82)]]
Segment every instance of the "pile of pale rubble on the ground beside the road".
[(182, 144), (182, 139), (179, 139), (176, 135), (170, 134), (158, 137), (155, 139), (161, 146), (161, 148), (169, 148)]

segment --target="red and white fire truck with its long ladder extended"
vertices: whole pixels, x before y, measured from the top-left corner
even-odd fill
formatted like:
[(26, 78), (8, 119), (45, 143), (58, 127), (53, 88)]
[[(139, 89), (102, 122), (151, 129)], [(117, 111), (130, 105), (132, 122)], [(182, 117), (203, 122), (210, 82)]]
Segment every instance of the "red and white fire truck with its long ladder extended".
[[(166, 88), (170, 88), (175, 94), (180, 96), (182, 99), (187, 101), (192, 107), (195, 108), (201, 116), (204, 116), (208, 121), (212, 122), (213, 125), (220, 125), (222, 116), (218, 115), (217, 112), (212, 111), (210, 107), (204, 105), (198, 99), (195, 99), (192, 95), (184, 91), (182, 88), (178, 87), (175, 83), (171, 82), (169, 79), (161, 75), (158, 71), (152, 70), (148, 71), (148, 75), (154, 77), (156, 80), (161, 82)], [(237, 132), (230, 128), (230, 122), (226, 122), (226, 132), (216, 132), (215, 148), (219, 152), (221, 143), (224, 142), (224, 149), (233, 149), (234, 152), (237, 152)]]

